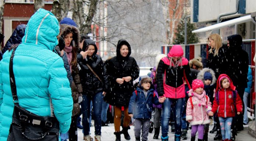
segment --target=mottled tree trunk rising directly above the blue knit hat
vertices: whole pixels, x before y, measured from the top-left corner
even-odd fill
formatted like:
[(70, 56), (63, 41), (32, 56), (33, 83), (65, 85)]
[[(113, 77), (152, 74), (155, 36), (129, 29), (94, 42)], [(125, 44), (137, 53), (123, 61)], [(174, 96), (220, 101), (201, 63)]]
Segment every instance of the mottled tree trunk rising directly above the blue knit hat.
[(51, 12), (56, 16), (60, 22), (65, 16), (67, 16), (70, 3), (68, 0), (54, 0)]

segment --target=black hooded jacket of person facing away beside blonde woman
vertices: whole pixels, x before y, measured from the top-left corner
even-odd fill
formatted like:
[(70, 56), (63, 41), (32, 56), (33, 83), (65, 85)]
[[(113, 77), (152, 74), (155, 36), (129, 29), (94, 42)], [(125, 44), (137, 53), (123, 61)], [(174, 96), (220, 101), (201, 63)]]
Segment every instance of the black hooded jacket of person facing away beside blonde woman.
[(242, 37), (240, 35), (228, 36), (230, 44), (230, 69), (228, 76), (238, 88), (247, 88), (247, 73), (249, 65), (248, 53), (242, 49)]

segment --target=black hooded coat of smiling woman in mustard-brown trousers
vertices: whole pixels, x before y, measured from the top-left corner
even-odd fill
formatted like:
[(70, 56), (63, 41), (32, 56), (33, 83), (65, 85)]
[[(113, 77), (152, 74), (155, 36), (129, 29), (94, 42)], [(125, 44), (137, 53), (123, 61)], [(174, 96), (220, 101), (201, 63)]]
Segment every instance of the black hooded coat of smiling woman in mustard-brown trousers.
[[(120, 48), (122, 45), (127, 45), (129, 53), (126, 57), (122, 57)], [(126, 40), (119, 40), (117, 44), (117, 56), (106, 60), (105, 65), (110, 80), (110, 90), (104, 100), (110, 105), (128, 106), (132, 92), (135, 90), (133, 81), (139, 77), (139, 67), (136, 60), (131, 55), (131, 47)], [(118, 84), (117, 78), (128, 77), (132, 79), (129, 82)]]

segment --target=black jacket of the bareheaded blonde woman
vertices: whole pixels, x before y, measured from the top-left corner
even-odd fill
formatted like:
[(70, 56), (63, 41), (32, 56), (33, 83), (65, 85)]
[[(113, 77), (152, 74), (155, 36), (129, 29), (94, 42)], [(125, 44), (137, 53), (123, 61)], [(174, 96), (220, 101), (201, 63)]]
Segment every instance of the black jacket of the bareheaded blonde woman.
[(218, 55), (214, 56), (214, 51), (215, 50), (213, 50), (213, 53), (209, 53), (207, 67), (211, 68), (215, 72), (216, 78), (218, 78), (220, 74), (228, 74), (230, 53), (228, 47), (225, 45), (220, 47)]

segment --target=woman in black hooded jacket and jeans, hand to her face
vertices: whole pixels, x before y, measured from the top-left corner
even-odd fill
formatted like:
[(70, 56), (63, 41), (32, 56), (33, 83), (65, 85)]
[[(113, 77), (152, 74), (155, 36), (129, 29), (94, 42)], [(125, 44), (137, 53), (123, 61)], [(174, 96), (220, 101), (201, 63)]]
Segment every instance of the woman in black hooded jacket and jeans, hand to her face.
[[(101, 111), (103, 94), (107, 90), (109, 84), (106, 74), (106, 68), (99, 55), (97, 55), (97, 47), (93, 40), (85, 39), (83, 41), (82, 51), (85, 53), (85, 59), (82, 55), (77, 55), (83, 87), (83, 101), (82, 107), (82, 124), (83, 124), (83, 140), (90, 141), (90, 101), (93, 105), (94, 127), (95, 127), (95, 141), (100, 141), (101, 135)], [(92, 70), (96, 73), (96, 76)]]

